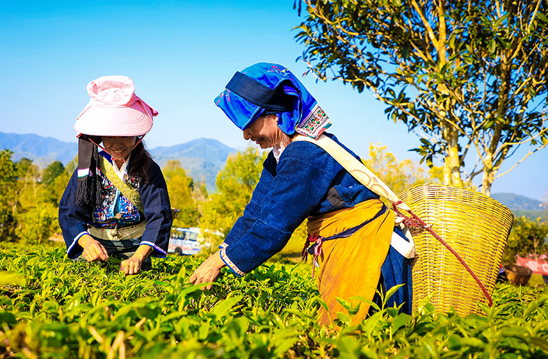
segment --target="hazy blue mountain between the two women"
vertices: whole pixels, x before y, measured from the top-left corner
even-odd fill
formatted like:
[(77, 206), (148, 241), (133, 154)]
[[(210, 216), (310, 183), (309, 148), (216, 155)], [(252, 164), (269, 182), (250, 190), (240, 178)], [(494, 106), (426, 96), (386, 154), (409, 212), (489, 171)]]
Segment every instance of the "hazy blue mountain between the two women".
[(238, 150), (210, 138), (192, 139), (184, 144), (150, 150), (160, 167), (170, 159), (179, 160), (187, 176), (197, 182), (205, 181), (208, 191), (214, 191), (217, 172), (223, 169), (228, 156), (235, 152)]

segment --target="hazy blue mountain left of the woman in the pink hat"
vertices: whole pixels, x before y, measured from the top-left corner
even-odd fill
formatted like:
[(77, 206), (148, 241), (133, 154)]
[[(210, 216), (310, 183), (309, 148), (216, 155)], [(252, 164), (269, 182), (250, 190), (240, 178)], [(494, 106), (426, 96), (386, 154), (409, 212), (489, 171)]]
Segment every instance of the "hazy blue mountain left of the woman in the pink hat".
[(66, 165), (78, 153), (78, 144), (32, 133), (18, 135), (16, 133), (0, 132), (0, 150), (5, 149), (14, 152), (12, 155), (13, 161), (19, 161), (23, 157), (27, 157), (38, 165), (48, 165), (53, 161), (61, 161)]

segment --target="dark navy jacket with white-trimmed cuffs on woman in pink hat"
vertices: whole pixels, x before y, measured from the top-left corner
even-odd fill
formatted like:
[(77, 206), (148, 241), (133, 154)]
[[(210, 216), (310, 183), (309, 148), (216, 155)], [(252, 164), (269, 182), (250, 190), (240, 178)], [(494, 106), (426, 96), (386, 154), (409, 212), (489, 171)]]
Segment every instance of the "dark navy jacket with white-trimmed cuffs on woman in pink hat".
[[(82, 235), (88, 234), (88, 224), (94, 225), (92, 213), (79, 207), (74, 200), (77, 181), (76, 170), (59, 203), (59, 225), (66, 243), (67, 255), (71, 259), (82, 254), (83, 248), (80, 247), (77, 241)], [(145, 208), (145, 213), (142, 213), (142, 215), (144, 215), (147, 222), (140, 243), (153, 248), (151, 256), (165, 258), (173, 220), (166, 181), (157, 163), (151, 164), (149, 181), (141, 181), (138, 191), (142, 205)], [(120, 196), (123, 195), (120, 194)]]

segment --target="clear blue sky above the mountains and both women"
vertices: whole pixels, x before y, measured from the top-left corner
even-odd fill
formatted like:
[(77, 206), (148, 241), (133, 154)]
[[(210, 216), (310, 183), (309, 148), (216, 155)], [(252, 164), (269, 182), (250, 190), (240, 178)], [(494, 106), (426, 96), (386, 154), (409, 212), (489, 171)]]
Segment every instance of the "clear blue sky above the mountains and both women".
[[(274, 62), (295, 75), (303, 46), (293, 0), (280, 1), (2, 1), (0, 131), (75, 141), (73, 124), (88, 103), (86, 84), (126, 75), (158, 109), (147, 146), (208, 137), (245, 148), (242, 133), (213, 98), (234, 72)], [(419, 157), (416, 135), (386, 119), (384, 105), (338, 81), (302, 79), (333, 122), (330, 129), (359, 155), (369, 144), (397, 158)], [(522, 151), (523, 152), (523, 151)], [(468, 159), (472, 162), (474, 159)], [(510, 159), (507, 161), (510, 163)], [(508, 165), (506, 166), (508, 168)], [(548, 197), (548, 149), (497, 179), (493, 193)]]

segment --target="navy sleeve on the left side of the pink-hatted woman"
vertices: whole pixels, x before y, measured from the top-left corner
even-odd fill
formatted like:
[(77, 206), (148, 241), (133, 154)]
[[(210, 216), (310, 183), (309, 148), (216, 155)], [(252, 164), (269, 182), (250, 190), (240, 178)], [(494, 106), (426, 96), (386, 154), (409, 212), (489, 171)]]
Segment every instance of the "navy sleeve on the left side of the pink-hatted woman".
[(87, 224), (91, 222), (90, 213), (75, 202), (74, 194), (77, 184), (78, 177), (75, 171), (59, 202), (59, 226), (66, 243), (66, 255), (71, 259), (82, 254), (83, 249), (78, 244), (78, 239), (88, 234)]

